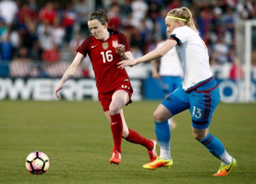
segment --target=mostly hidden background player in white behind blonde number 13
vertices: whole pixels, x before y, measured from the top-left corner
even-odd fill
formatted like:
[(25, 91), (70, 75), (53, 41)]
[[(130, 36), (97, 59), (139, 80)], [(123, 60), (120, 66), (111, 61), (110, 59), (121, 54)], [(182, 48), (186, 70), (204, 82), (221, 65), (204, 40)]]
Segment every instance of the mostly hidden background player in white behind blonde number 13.
[[(167, 31), (167, 38), (171, 35), (171, 32)], [(156, 48), (161, 47), (165, 40), (162, 40), (157, 44)], [(152, 66), (152, 77), (155, 79), (160, 78), (160, 85), (162, 91), (165, 93), (165, 97), (169, 96), (177, 87), (181, 85), (183, 71), (181, 64), (179, 64), (175, 48), (169, 50), (159, 60), (159, 71), (158, 71), (158, 60), (151, 61)], [(176, 122), (173, 118), (168, 119), (168, 124), (171, 130), (176, 127)]]

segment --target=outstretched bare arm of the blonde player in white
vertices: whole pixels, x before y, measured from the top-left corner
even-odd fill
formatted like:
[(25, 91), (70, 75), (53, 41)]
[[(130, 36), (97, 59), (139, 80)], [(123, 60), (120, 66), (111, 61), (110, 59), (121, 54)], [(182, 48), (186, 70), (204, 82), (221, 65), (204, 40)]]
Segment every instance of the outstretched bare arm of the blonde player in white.
[(169, 50), (171, 50), (173, 47), (177, 45), (177, 41), (173, 39), (168, 39), (164, 42), (164, 44), (161, 47), (158, 47), (155, 50), (152, 50), (151, 52), (145, 54), (142, 57), (139, 57), (138, 59), (128, 59), (128, 60), (122, 60), (119, 62), (119, 68), (124, 69), (125, 66), (134, 66), (139, 63), (148, 62), (154, 59), (158, 59), (162, 56), (164, 56)]

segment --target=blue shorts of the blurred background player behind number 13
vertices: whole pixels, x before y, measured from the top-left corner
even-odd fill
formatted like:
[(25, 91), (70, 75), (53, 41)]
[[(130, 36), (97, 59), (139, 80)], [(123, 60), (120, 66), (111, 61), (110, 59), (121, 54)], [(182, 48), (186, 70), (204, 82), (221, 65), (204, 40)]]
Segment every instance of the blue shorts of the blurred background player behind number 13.
[(161, 87), (165, 94), (172, 93), (181, 85), (181, 77), (178, 76), (161, 76)]

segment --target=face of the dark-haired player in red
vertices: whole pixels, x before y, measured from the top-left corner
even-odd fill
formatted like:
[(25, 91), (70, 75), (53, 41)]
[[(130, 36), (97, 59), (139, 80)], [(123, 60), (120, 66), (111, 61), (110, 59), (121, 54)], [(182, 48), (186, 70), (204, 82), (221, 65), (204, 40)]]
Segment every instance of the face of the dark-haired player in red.
[(98, 40), (104, 39), (105, 33), (108, 32), (107, 24), (102, 25), (98, 19), (88, 21), (88, 27), (91, 30), (92, 35)]

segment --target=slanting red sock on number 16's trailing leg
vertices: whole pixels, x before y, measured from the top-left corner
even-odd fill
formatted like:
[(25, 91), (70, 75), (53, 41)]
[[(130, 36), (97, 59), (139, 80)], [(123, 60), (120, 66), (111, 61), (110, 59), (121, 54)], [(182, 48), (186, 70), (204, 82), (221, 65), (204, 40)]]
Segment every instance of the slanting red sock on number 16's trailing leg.
[(138, 132), (131, 129), (129, 129), (129, 134), (125, 139), (134, 144), (140, 144), (145, 148), (147, 148), (148, 150), (151, 150), (154, 146), (152, 141), (150, 141), (149, 139), (146, 139), (145, 137), (142, 137), (141, 135), (139, 135)]

